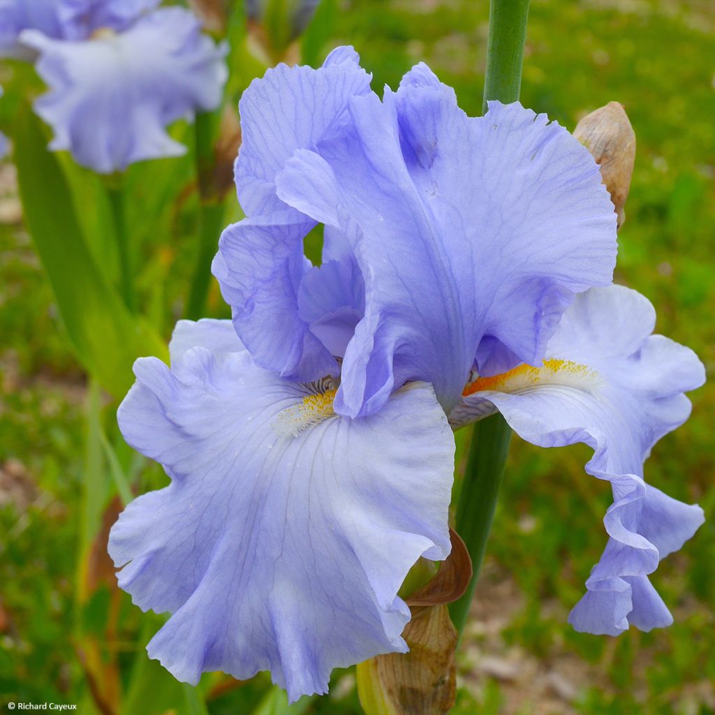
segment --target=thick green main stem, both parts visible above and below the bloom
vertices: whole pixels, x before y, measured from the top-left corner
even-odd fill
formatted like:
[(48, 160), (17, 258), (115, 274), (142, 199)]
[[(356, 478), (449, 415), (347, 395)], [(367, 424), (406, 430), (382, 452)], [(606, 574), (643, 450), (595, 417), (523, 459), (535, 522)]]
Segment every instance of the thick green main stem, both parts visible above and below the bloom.
[[(490, 0), (485, 111), (488, 99), (506, 104), (519, 98), (528, 10), (528, 0)], [(501, 415), (481, 420), (472, 433), (456, 527), (472, 558), (474, 571), (464, 596), (450, 605), (450, 616), (460, 635), (484, 560), (510, 439), (511, 429)]]

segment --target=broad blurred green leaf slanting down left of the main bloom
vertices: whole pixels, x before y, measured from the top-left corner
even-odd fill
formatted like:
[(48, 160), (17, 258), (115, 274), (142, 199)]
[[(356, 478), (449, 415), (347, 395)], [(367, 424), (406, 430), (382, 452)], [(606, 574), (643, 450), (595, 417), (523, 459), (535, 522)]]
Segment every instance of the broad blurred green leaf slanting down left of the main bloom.
[(146, 321), (129, 314), (94, 262), (64, 174), (29, 105), (19, 112), (14, 143), (26, 226), (77, 357), (105, 390), (122, 398), (133, 382), (134, 360), (165, 358), (166, 345)]

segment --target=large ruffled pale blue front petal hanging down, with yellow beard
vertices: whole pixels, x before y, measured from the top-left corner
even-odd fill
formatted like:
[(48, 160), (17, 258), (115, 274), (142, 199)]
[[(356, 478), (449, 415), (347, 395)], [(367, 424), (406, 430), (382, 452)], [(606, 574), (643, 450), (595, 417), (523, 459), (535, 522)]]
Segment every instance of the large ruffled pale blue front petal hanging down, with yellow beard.
[[(216, 327), (182, 333), (215, 342)], [(109, 552), (134, 603), (173, 614), (149, 655), (193, 684), (270, 670), (295, 700), (334, 667), (405, 651), (398, 588), (450, 550), (454, 442), (433, 390), (349, 420), (330, 385), (288, 383), (245, 351), (134, 370), (119, 425), (172, 483), (127, 507)]]

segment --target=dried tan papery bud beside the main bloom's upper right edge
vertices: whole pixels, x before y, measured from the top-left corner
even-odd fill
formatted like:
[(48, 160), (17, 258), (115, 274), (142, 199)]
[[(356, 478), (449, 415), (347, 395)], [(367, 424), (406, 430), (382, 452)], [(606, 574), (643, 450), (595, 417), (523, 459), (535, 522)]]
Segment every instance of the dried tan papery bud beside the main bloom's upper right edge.
[(618, 215), (618, 228), (626, 220), (623, 207), (631, 187), (633, 163), (636, 161), (636, 133), (623, 104), (608, 102), (581, 119), (573, 136), (583, 144), (601, 167), (611, 201)]

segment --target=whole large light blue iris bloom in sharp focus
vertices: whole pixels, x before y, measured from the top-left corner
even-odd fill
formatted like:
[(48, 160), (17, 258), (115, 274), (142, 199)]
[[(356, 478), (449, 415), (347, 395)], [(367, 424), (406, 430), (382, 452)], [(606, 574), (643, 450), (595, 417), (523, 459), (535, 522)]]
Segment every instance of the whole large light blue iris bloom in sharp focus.
[(170, 368), (139, 360), (119, 408), (172, 480), (109, 541), (134, 602), (173, 614), (149, 655), (190, 683), (269, 669), (295, 700), (404, 651), (400, 583), (450, 549), (448, 425), (496, 409), (538, 445), (585, 441), (613, 486), (576, 628), (666, 625), (647, 574), (702, 514), (643, 462), (702, 366), (611, 285), (586, 149), (518, 104), (467, 117), (422, 64), (381, 101), (350, 48), (269, 70), (240, 110), (247, 218), (214, 263), (232, 324), (179, 322)]

